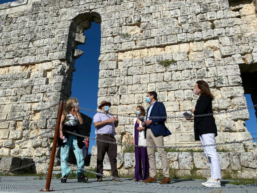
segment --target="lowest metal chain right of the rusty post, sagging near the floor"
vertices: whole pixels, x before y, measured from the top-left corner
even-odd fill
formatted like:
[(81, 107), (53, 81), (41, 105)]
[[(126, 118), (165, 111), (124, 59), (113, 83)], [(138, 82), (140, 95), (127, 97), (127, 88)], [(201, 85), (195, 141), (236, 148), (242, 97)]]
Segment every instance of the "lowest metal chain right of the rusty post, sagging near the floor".
[(59, 158), (56, 158), (58, 161), (60, 162), (63, 162), (63, 163), (66, 163), (68, 164), (69, 166), (72, 166), (72, 167), (75, 167), (75, 168), (78, 168), (78, 169), (81, 169), (81, 170), (84, 170), (86, 172), (89, 172), (89, 173), (92, 173), (92, 174), (96, 174), (98, 176), (102, 176), (104, 178), (110, 178), (110, 179), (114, 179), (114, 180), (120, 180), (120, 181), (124, 181), (124, 182), (130, 182), (130, 183), (136, 183), (136, 184), (142, 184), (142, 185), (147, 185), (147, 186), (156, 186), (156, 187), (164, 187), (164, 188), (179, 188), (179, 189), (226, 189), (226, 188), (244, 188), (244, 187), (256, 187), (257, 184), (254, 183), (254, 184), (251, 184), (251, 185), (234, 185), (234, 186), (223, 186), (223, 187), (200, 187), (200, 186), (171, 186), (171, 185), (161, 185), (161, 184), (158, 184), (158, 185), (155, 185), (155, 184), (152, 184), (152, 183), (144, 183), (144, 182), (134, 182), (134, 181), (131, 181), (131, 180), (126, 180), (126, 179), (122, 179), (122, 178), (115, 178), (113, 176), (108, 176), (108, 175), (104, 175), (104, 174), (100, 174), (100, 173), (97, 173), (97, 172), (93, 172), (93, 171), (90, 171), (90, 170), (87, 170), (87, 169), (84, 169), (84, 168), (80, 168), (78, 166), (75, 166), (69, 162), (66, 162), (66, 161), (63, 161)]

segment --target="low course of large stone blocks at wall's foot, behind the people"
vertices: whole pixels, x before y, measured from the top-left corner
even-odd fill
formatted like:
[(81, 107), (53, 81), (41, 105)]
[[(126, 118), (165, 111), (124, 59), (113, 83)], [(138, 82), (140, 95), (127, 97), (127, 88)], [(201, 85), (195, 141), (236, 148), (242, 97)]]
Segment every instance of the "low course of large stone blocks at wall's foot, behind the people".
[[(92, 157), (96, 152), (92, 152)], [(170, 176), (185, 177), (193, 172), (196, 175), (208, 178), (210, 175), (209, 162), (202, 152), (168, 152), (170, 167)], [(162, 173), (161, 159), (158, 153), (155, 153), (157, 172)], [(218, 152), (221, 164), (222, 178), (228, 173), (234, 178), (257, 178), (256, 152)], [(90, 164), (96, 167), (96, 161)], [(119, 174), (134, 177), (135, 154), (118, 153), (117, 168)], [(104, 174), (111, 175), (111, 166), (108, 157), (104, 159)]]

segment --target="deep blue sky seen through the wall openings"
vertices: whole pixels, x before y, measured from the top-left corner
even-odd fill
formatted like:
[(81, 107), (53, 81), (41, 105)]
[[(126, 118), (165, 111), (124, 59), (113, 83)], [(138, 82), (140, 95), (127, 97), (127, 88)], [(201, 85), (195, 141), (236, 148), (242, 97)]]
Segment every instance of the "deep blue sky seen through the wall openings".
[[(0, 4), (6, 2), (10, 2), (10, 0), (0, 0)], [(87, 37), (85, 45), (78, 46), (78, 49), (85, 53), (75, 62), (76, 71), (73, 73), (71, 97), (78, 98), (81, 107), (96, 110), (99, 75), (98, 57), (100, 54), (101, 40), (100, 25), (92, 23), (90, 29), (85, 31), (85, 35)], [(245, 97), (247, 106), (252, 106), (253, 103), (250, 95), (247, 94)], [(81, 112), (91, 118), (95, 115), (95, 113), (88, 111), (82, 110)], [(245, 122), (248, 131), (251, 133), (257, 133), (257, 122), (254, 113), (255, 110), (253, 108), (249, 109), (250, 120)], [(95, 137), (93, 123), (91, 125), (90, 137)], [(253, 134), (253, 137), (257, 137), (257, 134)], [(95, 141), (90, 140), (89, 151), (91, 151), (91, 147), (95, 144)]]

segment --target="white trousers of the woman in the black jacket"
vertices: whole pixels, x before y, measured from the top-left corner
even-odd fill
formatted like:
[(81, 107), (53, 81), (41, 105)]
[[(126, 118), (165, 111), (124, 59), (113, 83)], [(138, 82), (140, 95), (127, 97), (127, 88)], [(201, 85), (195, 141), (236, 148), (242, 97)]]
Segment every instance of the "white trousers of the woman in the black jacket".
[[(202, 145), (215, 144), (214, 133), (208, 133), (208, 134), (203, 134), (199, 136), (200, 136), (200, 141)], [(211, 178), (221, 179), (221, 165), (219, 163), (219, 157), (216, 151), (216, 145), (205, 146), (203, 148), (204, 148), (204, 153), (209, 160)]]

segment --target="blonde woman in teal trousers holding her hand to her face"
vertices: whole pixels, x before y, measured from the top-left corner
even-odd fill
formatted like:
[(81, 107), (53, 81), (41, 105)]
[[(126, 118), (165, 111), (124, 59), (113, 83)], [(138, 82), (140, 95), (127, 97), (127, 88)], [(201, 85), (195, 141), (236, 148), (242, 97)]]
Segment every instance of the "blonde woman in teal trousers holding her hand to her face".
[[(83, 124), (83, 119), (80, 115), (78, 106), (79, 104), (77, 98), (69, 98), (63, 105), (59, 129), (60, 140), (58, 144), (61, 145), (61, 161), (68, 162), (70, 148), (73, 149), (78, 166), (76, 171), (78, 182), (87, 182), (87, 177), (84, 176), (85, 172), (82, 170), (84, 168), (82, 150), (82, 148), (85, 146), (84, 139), (64, 131), (66, 130), (78, 134), (78, 123)], [(65, 183), (67, 181), (70, 173), (70, 167), (65, 162), (61, 162), (61, 183)]]

